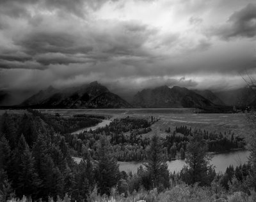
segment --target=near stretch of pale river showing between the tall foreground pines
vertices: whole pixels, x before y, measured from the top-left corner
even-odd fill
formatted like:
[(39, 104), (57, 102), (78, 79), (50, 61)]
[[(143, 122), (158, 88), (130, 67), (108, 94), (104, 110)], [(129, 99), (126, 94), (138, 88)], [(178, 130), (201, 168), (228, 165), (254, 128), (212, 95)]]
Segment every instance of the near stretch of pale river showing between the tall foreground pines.
[[(234, 168), (239, 164), (244, 164), (248, 161), (248, 150), (237, 150), (233, 152), (226, 152), (221, 154), (214, 154), (211, 160), (211, 164), (215, 166), (216, 173), (225, 173), (229, 165), (233, 165)], [(142, 165), (142, 162), (121, 162), (118, 161), (120, 171), (132, 171), (136, 173), (137, 169)], [(185, 164), (184, 160), (177, 159), (174, 161), (167, 161), (168, 169), (170, 171), (179, 172)]]

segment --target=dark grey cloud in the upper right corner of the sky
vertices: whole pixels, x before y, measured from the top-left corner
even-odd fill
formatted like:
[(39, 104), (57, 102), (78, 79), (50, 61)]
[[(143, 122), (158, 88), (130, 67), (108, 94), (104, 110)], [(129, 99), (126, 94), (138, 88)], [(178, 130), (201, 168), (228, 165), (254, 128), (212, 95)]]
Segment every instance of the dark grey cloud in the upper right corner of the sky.
[(214, 33), (225, 40), (236, 37), (253, 38), (256, 36), (256, 4), (235, 11), (226, 24), (214, 29)]

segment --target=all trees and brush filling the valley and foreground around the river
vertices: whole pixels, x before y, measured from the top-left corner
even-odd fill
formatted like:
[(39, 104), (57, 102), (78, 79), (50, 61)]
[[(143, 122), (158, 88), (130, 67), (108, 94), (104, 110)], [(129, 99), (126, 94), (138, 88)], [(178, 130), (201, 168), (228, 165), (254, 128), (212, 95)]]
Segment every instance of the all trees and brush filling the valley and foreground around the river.
[[(208, 134), (209, 138), (205, 138), (206, 131), (192, 132), (185, 126), (177, 127), (175, 133), (184, 131), (186, 134), (183, 134), (183, 138), (188, 140), (186, 146), (182, 141), (179, 142), (180, 150), (186, 150), (186, 166), (180, 173), (169, 173), (166, 143), (171, 142), (172, 137), (172, 144), (178, 142), (176, 134), (167, 136), (166, 139), (159, 138), (157, 134), (150, 140), (143, 139), (139, 131), (150, 127), (150, 122), (140, 119), (134, 121), (127, 117), (115, 120), (108, 129), (104, 127), (99, 131), (81, 133), (74, 137), (61, 132), (59, 127), (54, 127), (54, 122), (47, 121), (45, 115), (36, 111), (24, 115), (4, 113), (1, 117), (0, 201), (22, 196), (42, 201), (256, 199), (255, 137), (251, 141), (249, 163), (237, 168), (230, 166), (221, 174), (216, 173), (210, 164), (211, 156), (208, 151), (211, 139), (223, 138), (219, 134), (212, 137)], [(116, 134), (116, 130), (120, 134)], [(232, 138), (232, 134), (230, 136)], [(239, 145), (241, 140), (234, 138), (235, 145), (236, 141)], [(124, 145), (124, 151), (128, 150), (129, 155), (122, 152)], [(176, 147), (176, 143), (172, 145), (174, 146)], [(140, 154), (135, 147), (142, 147), (144, 153)], [(173, 148), (172, 150), (174, 152)], [(143, 155), (145, 167), (141, 166), (135, 174), (120, 172), (118, 157), (128, 156), (132, 159), (136, 152), (138, 159)], [(83, 158), (80, 164), (72, 159), (74, 154)]]

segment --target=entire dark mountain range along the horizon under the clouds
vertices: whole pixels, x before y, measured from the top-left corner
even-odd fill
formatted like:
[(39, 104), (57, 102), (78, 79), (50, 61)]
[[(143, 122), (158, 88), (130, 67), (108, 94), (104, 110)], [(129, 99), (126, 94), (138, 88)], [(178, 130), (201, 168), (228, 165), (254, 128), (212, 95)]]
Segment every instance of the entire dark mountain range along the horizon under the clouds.
[[(0, 90), (0, 105), (8, 103), (10, 92)], [(110, 92), (98, 82), (79, 87), (55, 89), (49, 86), (23, 101), (20, 107), (31, 108), (214, 108), (216, 106), (248, 106), (256, 103), (249, 88), (212, 92), (189, 90), (167, 85), (137, 92), (130, 102)], [(16, 105), (17, 106), (17, 105)]]

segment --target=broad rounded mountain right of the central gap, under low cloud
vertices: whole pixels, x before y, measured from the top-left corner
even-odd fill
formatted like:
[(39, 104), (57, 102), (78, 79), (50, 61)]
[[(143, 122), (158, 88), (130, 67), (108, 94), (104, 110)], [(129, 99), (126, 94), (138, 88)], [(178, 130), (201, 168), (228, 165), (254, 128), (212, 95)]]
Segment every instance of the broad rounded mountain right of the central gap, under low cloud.
[(214, 103), (184, 87), (167, 85), (155, 89), (143, 89), (138, 92), (132, 105), (142, 108), (205, 108)]

